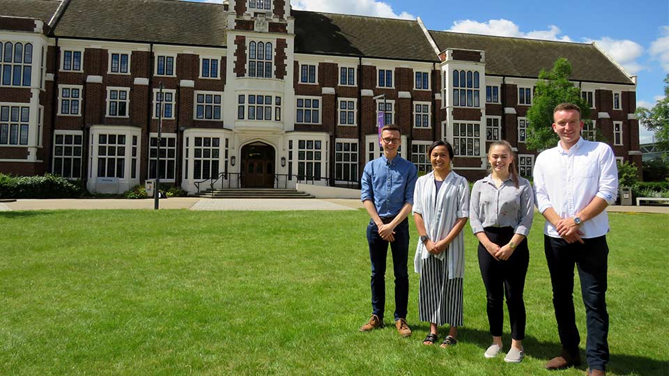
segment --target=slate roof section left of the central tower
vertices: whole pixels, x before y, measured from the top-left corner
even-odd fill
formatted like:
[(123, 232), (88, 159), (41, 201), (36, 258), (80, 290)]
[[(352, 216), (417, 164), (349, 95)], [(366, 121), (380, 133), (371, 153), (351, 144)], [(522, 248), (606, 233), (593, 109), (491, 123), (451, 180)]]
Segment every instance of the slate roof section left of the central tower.
[(59, 37), (225, 46), (221, 4), (176, 0), (70, 0)]

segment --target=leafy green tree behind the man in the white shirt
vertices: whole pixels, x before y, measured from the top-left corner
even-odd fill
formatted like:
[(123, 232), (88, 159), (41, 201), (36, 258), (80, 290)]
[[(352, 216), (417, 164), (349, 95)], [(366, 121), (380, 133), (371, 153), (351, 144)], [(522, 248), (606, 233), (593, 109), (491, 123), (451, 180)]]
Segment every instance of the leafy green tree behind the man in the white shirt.
[(590, 117), (590, 104), (581, 97), (580, 88), (569, 82), (570, 76), (571, 63), (566, 58), (558, 58), (551, 70), (541, 69), (532, 107), (527, 114), (529, 125), (525, 143), (528, 149), (542, 150), (557, 144), (559, 138), (553, 132), (553, 109), (557, 104), (576, 104), (580, 107), (581, 119)]

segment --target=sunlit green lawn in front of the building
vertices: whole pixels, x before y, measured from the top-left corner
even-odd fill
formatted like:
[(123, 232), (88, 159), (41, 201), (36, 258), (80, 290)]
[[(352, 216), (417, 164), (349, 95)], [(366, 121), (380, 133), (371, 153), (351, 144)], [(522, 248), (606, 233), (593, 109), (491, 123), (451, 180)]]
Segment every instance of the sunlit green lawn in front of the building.
[[(609, 215), (609, 375), (667, 375), (669, 215)], [(583, 375), (543, 368), (560, 345), (540, 216), (519, 365), (482, 356), (469, 226), (459, 345), (421, 345), (413, 272), (414, 336), (397, 335), (390, 265), (388, 327), (358, 333), (371, 310), (367, 221), (363, 210), (0, 212), (0, 375)], [(575, 300), (583, 349), (578, 290)]]

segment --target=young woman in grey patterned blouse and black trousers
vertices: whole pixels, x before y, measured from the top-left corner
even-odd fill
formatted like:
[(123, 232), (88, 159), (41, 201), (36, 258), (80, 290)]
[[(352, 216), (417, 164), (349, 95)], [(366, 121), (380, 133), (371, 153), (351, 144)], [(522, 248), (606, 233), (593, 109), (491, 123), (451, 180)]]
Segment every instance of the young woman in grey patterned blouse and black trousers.
[(525, 303), (523, 288), (530, 263), (526, 237), (534, 216), (534, 194), (528, 180), (518, 176), (514, 153), (507, 141), (495, 141), (488, 150), (491, 173), (472, 187), (470, 225), (479, 239), (479, 268), (488, 297), (487, 311), (493, 344), (484, 356), (502, 350), (504, 295), (511, 322), (511, 348), (504, 358), (520, 363), (525, 357)]

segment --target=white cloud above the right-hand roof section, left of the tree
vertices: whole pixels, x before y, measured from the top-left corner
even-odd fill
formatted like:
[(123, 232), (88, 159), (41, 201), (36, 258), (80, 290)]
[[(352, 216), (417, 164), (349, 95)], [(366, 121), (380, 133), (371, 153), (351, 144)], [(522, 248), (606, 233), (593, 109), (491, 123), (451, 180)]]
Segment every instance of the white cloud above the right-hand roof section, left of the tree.
[(455, 31), (457, 33), (484, 34), (487, 36), (509, 36), (571, 42), (569, 36), (560, 36), (562, 31), (555, 25), (548, 25), (548, 30), (533, 30), (525, 33), (521, 31), (521, 28), (518, 27), (518, 25), (508, 19), (491, 19), (488, 22), (460, 19), (453, 22), (453, 26), (449, 31)]

